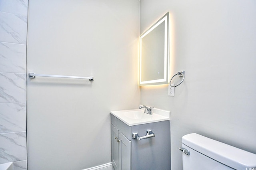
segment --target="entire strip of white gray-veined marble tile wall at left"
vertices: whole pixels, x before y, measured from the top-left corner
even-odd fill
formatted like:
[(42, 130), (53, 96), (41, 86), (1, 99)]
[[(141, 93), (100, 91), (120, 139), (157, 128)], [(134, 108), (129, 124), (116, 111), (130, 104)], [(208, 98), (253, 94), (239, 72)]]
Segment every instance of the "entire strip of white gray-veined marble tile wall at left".
[(0, 0), (0, 164), (27, 169), (26, 37), (28, 0)]

